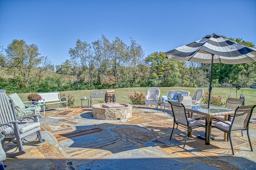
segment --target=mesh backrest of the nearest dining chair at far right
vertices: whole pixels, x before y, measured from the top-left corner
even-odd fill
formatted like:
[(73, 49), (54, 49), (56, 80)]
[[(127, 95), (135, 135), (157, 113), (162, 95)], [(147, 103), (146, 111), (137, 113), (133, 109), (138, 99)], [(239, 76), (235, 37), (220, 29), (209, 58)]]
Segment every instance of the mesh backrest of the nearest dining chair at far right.
[(232, 120), (232, 131), (238, 129), (248, 129), (252, 117), (252, 110), (256, 105), (238, 106)]

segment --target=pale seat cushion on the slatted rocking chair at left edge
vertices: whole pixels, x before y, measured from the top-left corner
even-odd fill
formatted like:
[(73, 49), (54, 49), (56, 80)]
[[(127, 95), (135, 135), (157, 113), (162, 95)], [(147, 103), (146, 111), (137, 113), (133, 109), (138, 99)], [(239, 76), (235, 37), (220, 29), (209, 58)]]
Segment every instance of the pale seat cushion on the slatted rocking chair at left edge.
[[(18, 125), (20, 129), (20, 133), (25, 133), (27, 131), (30, 131), (31, 129), (34, 129), (36, 127), (40, 127), (39, 122), (34, 122), (34, 123), (25, 123), (25, 124), (19, 124)], [(11, 127), (7, 127), (2, 131), (4, 135), (9, 135), (9, 134), (14, 134), (14, 130)]]

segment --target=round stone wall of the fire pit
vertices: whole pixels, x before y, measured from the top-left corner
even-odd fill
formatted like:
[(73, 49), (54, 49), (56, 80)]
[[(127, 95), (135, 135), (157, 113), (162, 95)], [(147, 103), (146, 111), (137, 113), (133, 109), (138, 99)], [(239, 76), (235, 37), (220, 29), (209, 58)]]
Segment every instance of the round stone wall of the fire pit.
[[(128, 119), (132, 117), (132, 105), (130, 104), (120, 104), (117, 106), (123, 105), (123, 108), (105, 108), (108, 105), (114, 107), (113, 104), (116, 103), (103, 103), (103, 104), (94, 104), (92, 105), (92, 117), (102, 120), (117, 120), (117, 119)], [(104, 107), (102, 107), (104, 105)]]

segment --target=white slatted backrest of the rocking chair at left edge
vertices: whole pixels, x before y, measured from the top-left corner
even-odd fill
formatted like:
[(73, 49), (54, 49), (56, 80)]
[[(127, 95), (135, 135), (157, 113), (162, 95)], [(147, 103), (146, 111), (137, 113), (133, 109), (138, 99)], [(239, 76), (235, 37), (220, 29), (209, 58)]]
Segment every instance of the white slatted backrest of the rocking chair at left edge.
[[(9, 123), (16, 120), (16, 114), (14, 114), (14, 104), (12, 100), (6, 95), (6, 90), (0, 90), (0, 124)], [(8, 126), (0, 126), (2, 132)]]

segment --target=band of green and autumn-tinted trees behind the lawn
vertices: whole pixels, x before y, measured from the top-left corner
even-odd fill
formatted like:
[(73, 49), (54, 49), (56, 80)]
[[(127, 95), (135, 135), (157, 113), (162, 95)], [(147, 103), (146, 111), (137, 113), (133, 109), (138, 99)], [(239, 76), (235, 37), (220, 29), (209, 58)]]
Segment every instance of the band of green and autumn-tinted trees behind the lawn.
[[(232, 41), (254, 47), (241, 38)], [(70, 59), (54, 65), (40, 56), (38, 46), (14, 39), (0, 47), (0, 89), (8, 92), (52, 92), (125, 87), (181, 86), (207, 87), (210, 64), (166, 59), (164, 52), (145, 57), (142, 45), (130, 38), (127, 45), (119, 37), (110, 41), (104, 35), (92, 43), (75, 42), (68, 50)], [(4, 75), (8, 75), (4, 77)], [(256, 62), (245, 64), (215, 63), (213, 86), (241, 85), (256, 82)]]

